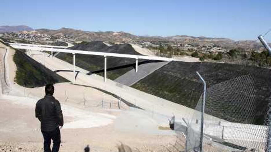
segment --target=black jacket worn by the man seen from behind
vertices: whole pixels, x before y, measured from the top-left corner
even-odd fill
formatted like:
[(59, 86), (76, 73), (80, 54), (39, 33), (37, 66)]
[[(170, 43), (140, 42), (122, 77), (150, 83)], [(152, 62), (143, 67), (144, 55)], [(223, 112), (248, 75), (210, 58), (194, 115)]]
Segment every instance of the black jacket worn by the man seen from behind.
[(60, 103), (52, 95), (45, 95), (36, 103), (36, 117), (41, 122), (41, 131), (53, 131), (63, 126)]

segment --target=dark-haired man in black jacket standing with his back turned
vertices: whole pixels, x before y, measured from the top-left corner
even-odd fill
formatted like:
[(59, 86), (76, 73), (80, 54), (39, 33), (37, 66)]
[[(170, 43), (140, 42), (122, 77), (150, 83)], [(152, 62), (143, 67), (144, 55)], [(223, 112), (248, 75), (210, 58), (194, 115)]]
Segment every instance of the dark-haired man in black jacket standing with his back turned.
[[(36, 103), (36, 117), (41, 122), (41, 132), (44, 138), (44, 152), (58, 152), (60, 146), (60, 130), (63, 126), (63, 115), (60, 103), (53, 97), (53, 84), (47, 84), (45, 87), (44, 98)], [(51, 139), (53, 148), (51, 151)]]

